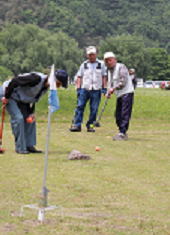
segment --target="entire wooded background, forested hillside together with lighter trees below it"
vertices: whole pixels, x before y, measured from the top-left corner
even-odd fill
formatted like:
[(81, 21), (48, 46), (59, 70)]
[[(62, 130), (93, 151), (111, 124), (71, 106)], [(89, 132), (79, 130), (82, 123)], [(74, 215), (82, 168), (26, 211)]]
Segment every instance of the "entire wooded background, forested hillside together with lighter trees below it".
[(0, 80), (52, 63), (73, 78), (95, 45), (144, 79), (170, 79), (169, 0), (0, 0)]

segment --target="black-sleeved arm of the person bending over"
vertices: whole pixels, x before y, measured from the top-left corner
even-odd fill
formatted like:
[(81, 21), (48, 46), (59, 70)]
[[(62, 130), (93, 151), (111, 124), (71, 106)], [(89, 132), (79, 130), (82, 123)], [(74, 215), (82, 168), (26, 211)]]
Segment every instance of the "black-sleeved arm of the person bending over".
[(28, 75), (19, 75), (16, 78), (13, 78), (9, 83), (5, 91), (5, 98), (9, 99), (14, 88), (19, 86), (36, 86), (41, 81), (41, 77), (38, 74), (31, 73)]

